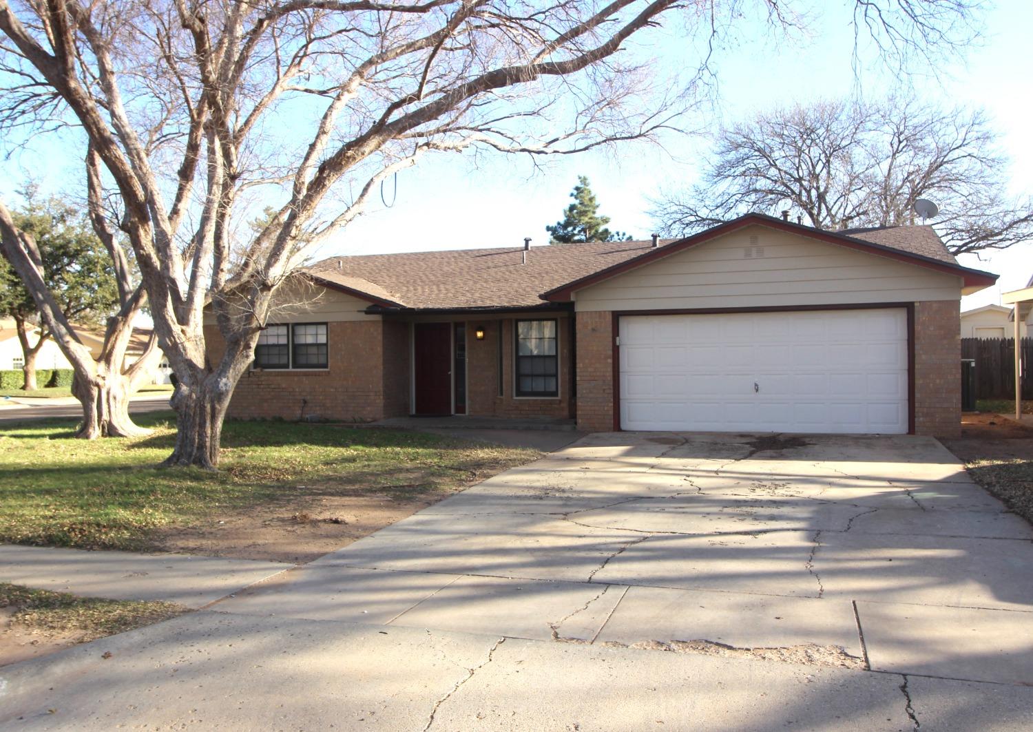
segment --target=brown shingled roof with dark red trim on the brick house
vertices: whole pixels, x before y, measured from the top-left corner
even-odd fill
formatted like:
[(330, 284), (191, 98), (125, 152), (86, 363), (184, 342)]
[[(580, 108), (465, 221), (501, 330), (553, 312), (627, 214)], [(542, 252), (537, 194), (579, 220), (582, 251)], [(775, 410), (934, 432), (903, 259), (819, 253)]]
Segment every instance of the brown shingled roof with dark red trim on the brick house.
[[(416, 310), (545, 308), (568, 301), (581, 287), (749, 225), (788, 230), (840, 246), (958, 275), (966, 285), (993, 284), (996, 275), (963, 267), (929, 226), (822, 231), (760, 214), (748, 214), (692, 236), (591, 242), (551, 247), (465, 249), (411, 254), (333, 257), (307, 269), (322, 284), (374, 306)], [(525, 261), (526, 254), (526, 263)], [(556, 306), (553, 306), (556, 307)]]

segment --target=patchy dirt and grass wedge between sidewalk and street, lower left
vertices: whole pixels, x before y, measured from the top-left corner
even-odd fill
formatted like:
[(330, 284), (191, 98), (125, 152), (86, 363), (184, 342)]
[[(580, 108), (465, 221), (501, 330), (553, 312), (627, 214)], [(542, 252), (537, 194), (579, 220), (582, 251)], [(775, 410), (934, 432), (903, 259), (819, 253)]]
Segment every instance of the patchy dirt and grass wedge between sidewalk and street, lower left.
[(169, 602), (81, 598), (0, 582), (0, 666), (189, 612)]

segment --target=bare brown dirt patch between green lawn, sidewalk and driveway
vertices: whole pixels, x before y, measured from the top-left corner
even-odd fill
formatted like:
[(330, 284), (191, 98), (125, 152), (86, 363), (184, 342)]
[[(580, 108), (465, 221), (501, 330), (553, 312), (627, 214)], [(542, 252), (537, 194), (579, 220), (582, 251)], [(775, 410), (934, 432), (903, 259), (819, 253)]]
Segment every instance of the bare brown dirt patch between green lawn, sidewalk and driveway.
[(273, 505), (225, 511), (190, 527), (159, 529), (154, 538), (165, 551), (305, 564), (411, 516), (450, 492), (404, 500), (300, 491)]

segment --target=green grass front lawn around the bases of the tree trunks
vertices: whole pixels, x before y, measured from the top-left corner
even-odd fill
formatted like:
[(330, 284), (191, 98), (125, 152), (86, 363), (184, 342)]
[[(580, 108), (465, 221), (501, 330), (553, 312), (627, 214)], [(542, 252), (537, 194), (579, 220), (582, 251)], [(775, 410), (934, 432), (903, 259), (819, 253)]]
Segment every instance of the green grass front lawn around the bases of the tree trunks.
[(133, 419), (154, 433), (75, 440), (69, 419), (0, 432), (0, 541), (152, 548), (152, 530), (275, 501), (296, 486), (408, 500), (539, 454), (401, 429), (227, 421), (219, 472), (168, 470), (157, 465), (173, 449), (169, 416)]

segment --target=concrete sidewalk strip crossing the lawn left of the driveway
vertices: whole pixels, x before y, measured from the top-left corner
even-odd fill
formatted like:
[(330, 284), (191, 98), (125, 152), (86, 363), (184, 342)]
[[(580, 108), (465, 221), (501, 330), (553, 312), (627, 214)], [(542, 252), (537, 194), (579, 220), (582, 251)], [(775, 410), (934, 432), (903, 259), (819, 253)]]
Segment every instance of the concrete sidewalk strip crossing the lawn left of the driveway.
[(0, 580), (112, 600), (198, 608), (293, 565), (189, 554), (136, 554), (0, 545)]

